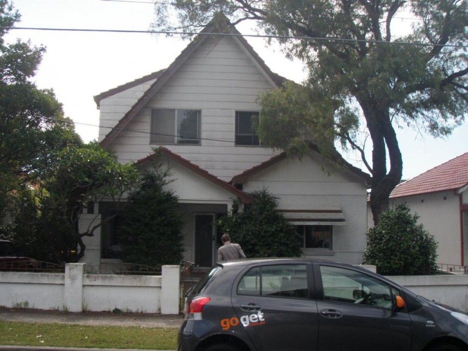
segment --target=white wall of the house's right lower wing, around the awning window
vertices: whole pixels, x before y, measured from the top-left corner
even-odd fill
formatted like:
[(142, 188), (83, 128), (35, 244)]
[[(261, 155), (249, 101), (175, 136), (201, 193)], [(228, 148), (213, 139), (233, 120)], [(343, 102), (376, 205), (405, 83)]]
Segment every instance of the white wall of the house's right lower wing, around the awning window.
[(281, 210), (341, 208), (346, 225), (333, 226), (333, 251), (304, 249), (304, 255), (357, 264), (366, 243), (366, 186), (343, 170), (331, 172), (328, 175), (320, 160), (309, 156), (288, 158), (250, 176), (243, 190), (265, 187), (279, 198)]

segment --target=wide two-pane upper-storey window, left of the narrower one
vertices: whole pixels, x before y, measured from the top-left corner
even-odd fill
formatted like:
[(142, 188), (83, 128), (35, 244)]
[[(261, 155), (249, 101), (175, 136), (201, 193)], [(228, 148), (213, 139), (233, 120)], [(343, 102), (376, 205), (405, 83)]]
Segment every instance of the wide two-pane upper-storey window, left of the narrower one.
[(152, 109), (151, 144), (200, 145), (200, 110)]

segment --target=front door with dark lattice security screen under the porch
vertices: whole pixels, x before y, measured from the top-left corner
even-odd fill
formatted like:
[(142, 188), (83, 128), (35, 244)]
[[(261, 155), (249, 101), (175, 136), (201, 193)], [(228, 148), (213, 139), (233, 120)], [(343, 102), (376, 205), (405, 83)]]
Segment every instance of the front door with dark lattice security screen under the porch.
[(200, 267), (213, 265), (214, 230), (212, 214), (195, 215), (195, 264)]

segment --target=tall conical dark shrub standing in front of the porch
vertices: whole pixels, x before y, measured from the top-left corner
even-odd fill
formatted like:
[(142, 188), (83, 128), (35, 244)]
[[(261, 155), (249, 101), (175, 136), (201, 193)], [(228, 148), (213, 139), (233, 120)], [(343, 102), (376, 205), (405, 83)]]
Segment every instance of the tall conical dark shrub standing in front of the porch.
[(156, 165), (128, 197), (118, 231), (125, 262), (156, 266), (181, 261), (183, 221), (177, 196), (165, 189), (169, 175)]

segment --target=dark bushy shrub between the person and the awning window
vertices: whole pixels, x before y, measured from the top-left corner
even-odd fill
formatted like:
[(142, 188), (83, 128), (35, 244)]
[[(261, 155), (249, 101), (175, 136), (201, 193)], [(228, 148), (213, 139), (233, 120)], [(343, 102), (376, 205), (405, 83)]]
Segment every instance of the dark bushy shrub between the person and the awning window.
[(251, 193), (254, 204), (238, 212), (238, 202), (232, 214), (220, 219), (220, 228), (229, 233), (232, 242), (239, 243), (247, 257), (298, 257), (300, 235), (276, 211), (278, 200), (266, 189)]

